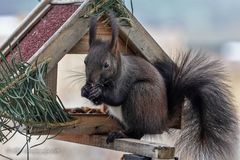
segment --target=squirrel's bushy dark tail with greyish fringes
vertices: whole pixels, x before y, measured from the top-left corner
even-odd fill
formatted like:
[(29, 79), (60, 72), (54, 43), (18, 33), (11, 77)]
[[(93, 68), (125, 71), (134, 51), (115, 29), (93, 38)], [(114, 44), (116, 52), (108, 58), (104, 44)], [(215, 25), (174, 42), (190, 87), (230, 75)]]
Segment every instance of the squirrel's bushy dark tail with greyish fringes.
[(203, 54), (181, 54), (175, 63), (155, 62), (168, 94), (169, 116), (183, 104), (176, 149), (184, 160), (233, 160), (237, 117), (223, 65)]

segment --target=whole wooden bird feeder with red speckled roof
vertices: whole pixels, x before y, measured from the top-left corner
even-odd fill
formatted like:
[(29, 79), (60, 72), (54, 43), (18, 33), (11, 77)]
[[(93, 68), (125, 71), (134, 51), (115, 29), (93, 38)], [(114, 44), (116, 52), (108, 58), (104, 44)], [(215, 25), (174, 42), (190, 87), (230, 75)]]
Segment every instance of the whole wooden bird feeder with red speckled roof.
[[(56, 94), (58, 62), (66, 54), (88, 53), (88, 30), (91, 13), (100, 9), (109, 0), (43, 0), (25, 18), (17, 30), (1, 46), (6, 57), (11, 56), (10, 47), (15, 51), (18, 48), (22, 57), (29, 63), (41, 62), (50, 59), (46, 82), (52, 92)], [(96, 3), (97, 2), (97, 3)], [(126, 8), (125, 8), (126, 9)], [(120, 25), (119, 48), (122, 53), (141, 56), (149, 61), (155, 58), (169, 61), (170, 58), (154, 41), (149, 33), (126, 9), (131, 25)], [(99, 16), (97, 36), (102, 39), (111, 38), (111, 27), (104, 23), (105, 15)], [(118, 18), (118, 17), (117, 17)], [(119, 18), (120, 21), (120, 18)], [(119, 130), (119, 124), (106, 114), (71, 114), (73, 121), (33, 128), (31, 134), (44, 134), (49, 131), (54, 134), (61, 131), (56, 137), (58, 140), (92, 145), (118, 151), (140, 155), (140, 158), (174, 159), (174, 148), (160, 144), (143, 142), (140, 140), (121, 139), (107, 145), (105, 136), (110, 131)], [(169, 124), (169, 127), (180, 128), (179, 118)], [(140, 159), (139, 156), (135, 159)], [(129, 159), (125, 156), (125, 159)]]

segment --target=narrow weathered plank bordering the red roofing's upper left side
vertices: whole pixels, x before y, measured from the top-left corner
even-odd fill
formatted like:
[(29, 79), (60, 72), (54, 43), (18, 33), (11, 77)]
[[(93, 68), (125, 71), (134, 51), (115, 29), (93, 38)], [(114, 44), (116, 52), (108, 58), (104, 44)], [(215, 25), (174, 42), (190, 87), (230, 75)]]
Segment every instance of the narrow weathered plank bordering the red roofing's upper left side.
[[(32, 25), (34, 25), (34, 22), (37, 21), (37, 19), (44, 14), (43, 11), (46, 10), (47, 6), (49, 5), (49, 1), (50, 0), (44, 0), (41, 1), (31, 12), (30, 14), (24, 18), (23, 22), (17, 27), (17, 29), (10, 35), (10, 37), (2, 44), (2, 46), (0, 47), (0, 49), (3, 51), (5, 50), (6, 52), (6, 48), (8, 48), (8, 45), (14, 45), (13, 41), (16, 43), (19, 38), (21, 38), (23, 35), (23, 33), (25, 33), (27, 31), (27, 29), (29, 29), (29, 27), (31, 27)], [(38, 17), (38, 18), (36, 18)]]

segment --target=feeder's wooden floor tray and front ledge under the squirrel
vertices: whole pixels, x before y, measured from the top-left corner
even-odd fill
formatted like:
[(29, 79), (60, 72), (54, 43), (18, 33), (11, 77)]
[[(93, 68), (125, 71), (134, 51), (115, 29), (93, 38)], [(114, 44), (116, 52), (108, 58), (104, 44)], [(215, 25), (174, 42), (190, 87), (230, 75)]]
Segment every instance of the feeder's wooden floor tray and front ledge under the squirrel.
[(174, 159), (175, 149), (163, 144), (136, 139), (117, 139), (114, 143), (107, 144), (107, 134), (121, 130), (119, 123), (107, 114), (73, 114), (72, 116), (74, 119), (70, 122), (34, 127), (28, 132), (32, 135), (58, 134), (55, 137), (57, 140), (133, 154), (125, 156), (123, 158), (125, 160)]

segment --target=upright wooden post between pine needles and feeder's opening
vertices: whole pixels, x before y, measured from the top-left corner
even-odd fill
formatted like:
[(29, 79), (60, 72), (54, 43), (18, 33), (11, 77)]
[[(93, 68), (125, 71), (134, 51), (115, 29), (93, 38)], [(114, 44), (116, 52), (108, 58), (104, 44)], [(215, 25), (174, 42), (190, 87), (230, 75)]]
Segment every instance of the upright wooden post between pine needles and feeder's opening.
[(47, 86), (51, 89), (53, 96), (57, 95), (57, 72), (58, 72), (58, 64), (56, 64), (53, 69), (47, 73), (45, 82)]

